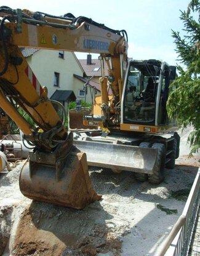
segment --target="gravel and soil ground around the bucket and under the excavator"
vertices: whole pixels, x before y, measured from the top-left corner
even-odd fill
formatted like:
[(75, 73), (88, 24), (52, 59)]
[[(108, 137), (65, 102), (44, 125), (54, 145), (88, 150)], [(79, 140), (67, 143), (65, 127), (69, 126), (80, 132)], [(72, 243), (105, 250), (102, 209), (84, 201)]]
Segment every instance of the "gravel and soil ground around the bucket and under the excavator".
[[(183, 134), (185, 145), (187, 133)], [(156, 255), (182, 214), (199, 156), (181, 151), (160, 185), (138, 182), (134, 173), (90, 168), (102, 200), (83, 210), (32, 201), (20, 193), (24, 161), (0, 174), (0, 255)]]

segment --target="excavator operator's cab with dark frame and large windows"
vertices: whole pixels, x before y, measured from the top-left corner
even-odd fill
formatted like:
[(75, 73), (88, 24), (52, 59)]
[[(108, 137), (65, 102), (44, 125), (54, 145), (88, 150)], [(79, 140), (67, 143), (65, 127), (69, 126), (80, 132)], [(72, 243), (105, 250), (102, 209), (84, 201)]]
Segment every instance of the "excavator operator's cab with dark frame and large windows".
[[(144, 125), (140, 132), (151, 132), (151, 127), (146, 126), (172, 124), (167, 116), (166, 102), (169, 85), (174, 79), (175, 67), (166, 62), (130, 61), (122, 97), (122, 127), (123, 124)], [(135, 126), (135, 130), (138, 128)]]

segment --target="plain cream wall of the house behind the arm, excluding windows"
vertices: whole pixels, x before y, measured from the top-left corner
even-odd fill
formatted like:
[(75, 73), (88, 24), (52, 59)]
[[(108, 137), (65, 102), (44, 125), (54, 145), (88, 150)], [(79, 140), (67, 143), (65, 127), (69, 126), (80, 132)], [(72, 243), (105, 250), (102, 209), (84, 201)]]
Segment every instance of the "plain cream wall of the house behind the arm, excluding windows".
[[(58, 57), (58, 50), (39, 50), (26, 58), (41, 86), (48, 89), (49, 98), (55, 90), (73, 90), (78, 98), (83, 82), (74, 78), (73, 74), (82, 76), (83, 72), (73, 52), (65, 52), (64, 58)], [(54, 72), (60, 73), (59, 86), (54, 86)]]

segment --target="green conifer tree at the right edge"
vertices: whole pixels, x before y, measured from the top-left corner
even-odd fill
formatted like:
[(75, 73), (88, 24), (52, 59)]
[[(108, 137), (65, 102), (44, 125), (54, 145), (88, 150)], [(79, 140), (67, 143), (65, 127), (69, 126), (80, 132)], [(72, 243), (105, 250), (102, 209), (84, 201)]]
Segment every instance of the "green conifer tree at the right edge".
[[(169, 95), (167, 111), (169, 116), (177, 118), (178, 125), (185, 129), (192, 126), (193, 131), (188, 137), (192, 153), (197, 153), (200, 147), (200, 4), (192, 0), (186, 11), (181, 11), (184, 33), (172, 30), (175, 39), (179, 72), (178, 78), (172, 84), (175, 87)], [(183, 65), (183, 66), (181, 66)]]

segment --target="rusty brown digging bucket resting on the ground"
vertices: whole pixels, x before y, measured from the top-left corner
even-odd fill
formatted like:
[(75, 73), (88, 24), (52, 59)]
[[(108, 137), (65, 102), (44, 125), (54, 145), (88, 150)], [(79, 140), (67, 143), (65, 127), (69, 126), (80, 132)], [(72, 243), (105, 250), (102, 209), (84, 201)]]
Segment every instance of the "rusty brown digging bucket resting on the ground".
[[(30, 152), (30, 159), (34, 154)], [(92, 187), (86, 154), (75, 148), (56, 164), (52, 158), (27, 161), (20, 174), (20, 190), (27, 198), (74, 209), (82, 209), (102, 197)]]

